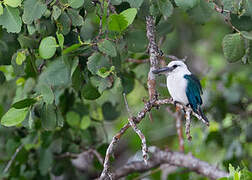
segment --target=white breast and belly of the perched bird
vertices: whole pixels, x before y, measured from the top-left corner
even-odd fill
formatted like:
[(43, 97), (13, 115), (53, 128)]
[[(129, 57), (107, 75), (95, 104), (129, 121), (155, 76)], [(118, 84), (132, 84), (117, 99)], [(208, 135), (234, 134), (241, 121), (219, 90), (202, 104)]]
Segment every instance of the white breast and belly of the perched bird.
[(167, 88), (173, 100), (187, 105), (189, 103), (186, 96), (187, 80), (184, 75), (184, 73), (173, 73), (167, 76)]

